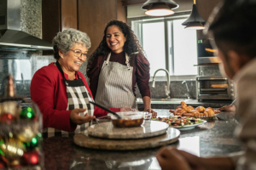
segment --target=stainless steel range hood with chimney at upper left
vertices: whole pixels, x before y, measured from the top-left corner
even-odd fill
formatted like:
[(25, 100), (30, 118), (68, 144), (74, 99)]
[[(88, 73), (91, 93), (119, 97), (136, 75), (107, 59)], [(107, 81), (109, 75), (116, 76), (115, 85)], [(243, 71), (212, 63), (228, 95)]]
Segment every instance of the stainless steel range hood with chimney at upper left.
[(52, 45), (20, 29), (20, 0), (0, 0), (0, 49), (52, 50)]

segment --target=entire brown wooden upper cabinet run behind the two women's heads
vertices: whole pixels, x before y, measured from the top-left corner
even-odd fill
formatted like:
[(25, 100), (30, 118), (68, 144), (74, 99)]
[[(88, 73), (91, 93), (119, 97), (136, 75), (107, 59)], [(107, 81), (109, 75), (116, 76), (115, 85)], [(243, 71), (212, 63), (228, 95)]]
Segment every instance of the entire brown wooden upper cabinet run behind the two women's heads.
[(91, 54), (109, 20), (126, 22), (126, 7), (122, 0), (43, 0), (42, 20), (44, 40), (51, 42), (57, 32), (75, 28), (90, 37)]

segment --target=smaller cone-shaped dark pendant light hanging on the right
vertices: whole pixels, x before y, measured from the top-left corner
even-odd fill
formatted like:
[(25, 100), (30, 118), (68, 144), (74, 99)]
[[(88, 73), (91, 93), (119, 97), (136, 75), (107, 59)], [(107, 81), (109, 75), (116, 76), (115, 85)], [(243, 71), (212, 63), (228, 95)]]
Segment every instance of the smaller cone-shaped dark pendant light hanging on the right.
[(185, 20), (182, 25), (186, 26), (186, 30), (203, 30), (205, 29), (205, 26), (203, 26), (205, 22), (206, 20), (203, 20), (198, 13), (194, 0), (192, 12), (189, 16), (189, 19)]

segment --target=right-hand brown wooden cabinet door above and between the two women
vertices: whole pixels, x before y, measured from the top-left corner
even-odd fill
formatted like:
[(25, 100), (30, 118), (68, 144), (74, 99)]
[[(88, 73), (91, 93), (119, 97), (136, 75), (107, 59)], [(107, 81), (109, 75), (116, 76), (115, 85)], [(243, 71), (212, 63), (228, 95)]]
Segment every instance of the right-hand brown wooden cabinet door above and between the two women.
[(99, 46), (103, 31), (109, 20), (126, 22), (126, 8), (121, 0), (78, 0), (79, 30), (90, 37), (89, 54)]

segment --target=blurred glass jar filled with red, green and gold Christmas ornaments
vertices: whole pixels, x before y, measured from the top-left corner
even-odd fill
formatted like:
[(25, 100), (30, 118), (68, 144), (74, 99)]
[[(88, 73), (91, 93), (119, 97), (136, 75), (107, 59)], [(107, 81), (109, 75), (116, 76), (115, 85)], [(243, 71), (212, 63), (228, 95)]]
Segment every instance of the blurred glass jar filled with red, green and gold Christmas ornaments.
[(0, 169), (43, 169), (42, 116), (38, 106), (15, 95), (12, 77), (0, 97)]

